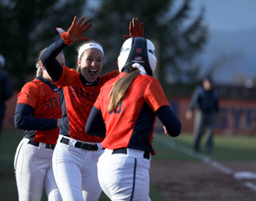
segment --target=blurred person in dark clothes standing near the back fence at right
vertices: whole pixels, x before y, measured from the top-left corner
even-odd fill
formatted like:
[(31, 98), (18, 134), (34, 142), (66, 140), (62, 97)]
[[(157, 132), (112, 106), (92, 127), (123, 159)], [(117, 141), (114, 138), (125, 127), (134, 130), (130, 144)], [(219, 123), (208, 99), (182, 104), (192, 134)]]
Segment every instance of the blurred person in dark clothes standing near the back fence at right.
[(191, 102), (186, 112), (187, 120), (192, 118), (193, 111), (197, 109), (194, 125), (194, 143), (195, 152), (200, 152), (200, 141), (203, 132), (206, 130), (206, 152), (213, 151), (213, 126), (217, 112), (219, 112), (219, 94), (213, 89), (211, 77), (203, 80), (203, 87), (198, 86), (192, 95)]

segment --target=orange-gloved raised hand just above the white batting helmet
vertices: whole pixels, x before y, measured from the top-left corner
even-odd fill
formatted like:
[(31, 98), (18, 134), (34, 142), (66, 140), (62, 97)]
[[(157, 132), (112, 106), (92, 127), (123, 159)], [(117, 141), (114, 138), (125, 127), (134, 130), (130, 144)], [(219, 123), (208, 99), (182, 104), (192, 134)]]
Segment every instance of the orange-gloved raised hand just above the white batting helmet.
[(129, 36), (124, 35), (126, 39), (130, 37), (144, 37), (144, 23), (142, 22), (140, 25), (140, 21), (138, 17), (133, 17), (133, 21), (130, 22), (129, 26)]

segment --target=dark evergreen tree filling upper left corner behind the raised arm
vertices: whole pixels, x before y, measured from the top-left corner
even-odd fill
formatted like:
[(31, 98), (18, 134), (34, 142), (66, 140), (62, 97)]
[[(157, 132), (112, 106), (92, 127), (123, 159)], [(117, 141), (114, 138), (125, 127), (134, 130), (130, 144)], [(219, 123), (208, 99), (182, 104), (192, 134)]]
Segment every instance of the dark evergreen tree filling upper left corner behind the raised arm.
[[(55, 27), (67, 31), (85, 3), (84, 0), (0, 1), (0, 54), (5, 57), (5, 69), (17, 90), (35, 77), (39, 51), (59, 38)], [(65, 49), (66, 63), (74, 63), (74, 51), (72, 48), (68, 51)]]

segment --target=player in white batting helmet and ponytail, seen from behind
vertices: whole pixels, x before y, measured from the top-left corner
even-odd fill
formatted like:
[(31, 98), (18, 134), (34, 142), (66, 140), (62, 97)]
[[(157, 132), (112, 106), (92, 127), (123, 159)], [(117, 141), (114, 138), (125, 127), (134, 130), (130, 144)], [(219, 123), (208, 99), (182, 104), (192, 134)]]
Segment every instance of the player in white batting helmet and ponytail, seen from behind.
[(98, 163), (104, 193), (114, 200), (150, 200), (149, 169), (153, 129), (157, 116), (165, 131), (176, 137), (181, 125), (165, 98), (156, 68), (153, 43), (143, 37), (123, 43), (121, 74), (108, 81), (96, 100), (85, 132), (105, 137)]

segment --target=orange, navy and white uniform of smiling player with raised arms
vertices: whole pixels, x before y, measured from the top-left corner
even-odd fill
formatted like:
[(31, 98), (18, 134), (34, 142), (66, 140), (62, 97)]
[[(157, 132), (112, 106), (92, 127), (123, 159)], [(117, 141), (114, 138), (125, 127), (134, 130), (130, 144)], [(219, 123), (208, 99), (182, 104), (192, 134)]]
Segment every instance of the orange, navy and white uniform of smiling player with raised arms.
[(59, 87), (62, 109), (59, 139), (53, 154), (53, 172), (63, 200), (93, 201), (101, 195), (97, 162), (103, 153), (103, 138), (87, 135), (85, 124), (101, 87), (119, 72), (115, 70), (88, 83), (75, 69), (68, 69), (55, 61), (55, 55), (65, 47), (67, 44), (60, 38), (41, 57)]

